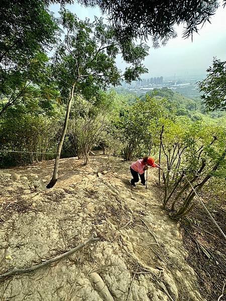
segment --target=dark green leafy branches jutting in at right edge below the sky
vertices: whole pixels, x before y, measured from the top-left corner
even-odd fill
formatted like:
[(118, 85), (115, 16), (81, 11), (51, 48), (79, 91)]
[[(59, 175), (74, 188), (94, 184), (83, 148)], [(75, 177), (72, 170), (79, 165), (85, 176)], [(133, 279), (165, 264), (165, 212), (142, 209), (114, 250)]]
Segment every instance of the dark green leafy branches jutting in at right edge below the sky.
[(198, 83), (206, 111), (226, 110), (226, 61), (214, 58), (206, 71), (206, 78)]

